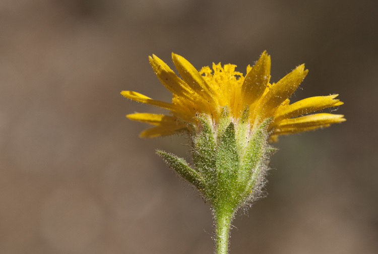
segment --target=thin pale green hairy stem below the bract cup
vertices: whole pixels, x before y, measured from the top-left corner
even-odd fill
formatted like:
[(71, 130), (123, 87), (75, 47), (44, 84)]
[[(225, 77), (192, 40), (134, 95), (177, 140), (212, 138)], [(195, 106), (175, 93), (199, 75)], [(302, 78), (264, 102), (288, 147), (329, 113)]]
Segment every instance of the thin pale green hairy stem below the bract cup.
[(228, 209), (221, 209), (215, 213), (216, 220), (216, 254), (228, 253), (228, 239), (231, 221), (233, 217), (233, 211)]

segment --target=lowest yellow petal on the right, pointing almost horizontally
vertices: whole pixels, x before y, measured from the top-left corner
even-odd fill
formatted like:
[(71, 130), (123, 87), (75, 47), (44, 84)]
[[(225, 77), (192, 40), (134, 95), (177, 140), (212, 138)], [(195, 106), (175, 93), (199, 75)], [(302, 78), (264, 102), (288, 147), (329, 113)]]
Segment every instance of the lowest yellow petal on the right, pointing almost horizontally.
[(278, 124), (277, 128), (278, 129), (283, 129), (283, 128), (301, 129), (301, 128), (319, 126), (319, 125), (326, 125), (326, 124), (345, 121), (345, 118), (343, 117), (344, 115), (340, 115), (340, 114), (329, 114), (329, 113), (311, 114), (311, 115), (305, 115), (305, 116), (296, 117), (296, 118), (284, 119)]

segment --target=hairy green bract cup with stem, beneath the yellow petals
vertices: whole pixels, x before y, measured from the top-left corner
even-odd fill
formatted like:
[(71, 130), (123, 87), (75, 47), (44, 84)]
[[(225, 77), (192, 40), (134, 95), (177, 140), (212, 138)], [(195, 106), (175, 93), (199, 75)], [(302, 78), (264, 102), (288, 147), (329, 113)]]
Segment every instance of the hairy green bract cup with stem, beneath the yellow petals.
[(216, 127), (199, 117), (201, 125), (192, 138), (193, 165), (158, 151), (169, 167), (198, 188), (211, 204), (217, 222), (217, 245), (227, 242), (235, 212), (261, 196), (272, 151), (267, 132), (272, 119), (266, 119), (250, 133), (248, 122), (243, 120), (248, 118), (248, 109), (243, 114), (234, 123), (224, 107)]

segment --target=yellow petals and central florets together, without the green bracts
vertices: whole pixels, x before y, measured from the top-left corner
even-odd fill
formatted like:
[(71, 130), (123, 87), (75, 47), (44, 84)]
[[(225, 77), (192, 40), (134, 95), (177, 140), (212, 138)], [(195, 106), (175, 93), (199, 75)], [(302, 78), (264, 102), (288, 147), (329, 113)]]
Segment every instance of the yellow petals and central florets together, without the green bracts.
[[(156, 55), (149, 56), (150, 64), (160, 82), (172, 92), (172, 103), (153, 100), (133, 91), (121, 94), (132, 100), (170, 110), (171, 115), (134, 113), (127, 115), (136, 121), (156, 125), (141, 133), (141, 137), (158, 137), (180, 132), (195, 132), (199, 117), (209, 119), (213, 127), (219, 124), (222, 109), (227, 107), (234, 124), (248, 110), (249, 130), (272, 117), (268, 126), (271, 140), (277, 136), (299, 133), (345, 121), (343, 115), (331, 113), (309, 114), (328, 107), (342, 105), (338, 94), (310, 97), (290, 104), (289, 97), (298, 88), (308, 70), (300, 65), (277, 83), (270, 82), (271, 59), (266, 51), (255, 66), (246, 68), (246, 75), (235, 71), (235, 65), (213, 63), (213, 70), (203, 67), (200, 72), (180, 55), (172, 53), (179, 78)], [(304, 115), (304, 116), (303, 116)]]

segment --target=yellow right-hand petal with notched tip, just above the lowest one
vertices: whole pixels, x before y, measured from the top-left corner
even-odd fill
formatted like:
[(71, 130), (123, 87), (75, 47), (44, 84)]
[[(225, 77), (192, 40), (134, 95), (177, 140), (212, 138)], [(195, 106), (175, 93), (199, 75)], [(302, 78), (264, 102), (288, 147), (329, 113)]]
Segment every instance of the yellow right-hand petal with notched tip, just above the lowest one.
[(341, 105), (342, 102), (335, 99), (337, 96), (338, 94), (329, 96), (315, 96), (297, 101), (290, 105), (281, 106), (276, 111), (276, 121), (302, 114), (308, 114), (328, 107)]

